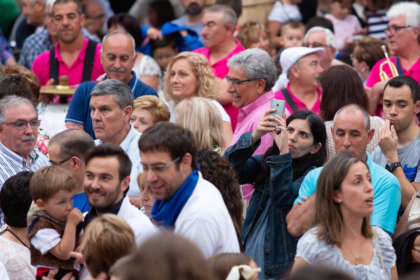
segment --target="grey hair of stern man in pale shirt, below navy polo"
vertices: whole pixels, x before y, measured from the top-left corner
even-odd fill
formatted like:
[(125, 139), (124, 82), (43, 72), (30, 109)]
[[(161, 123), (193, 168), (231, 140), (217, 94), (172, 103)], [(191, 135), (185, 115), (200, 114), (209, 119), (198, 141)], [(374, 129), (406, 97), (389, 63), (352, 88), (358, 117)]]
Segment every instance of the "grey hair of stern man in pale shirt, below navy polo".
[(115, 80), (106, 79), (96, 84), (90, 92), (90, 96), (113, 95), (115, 103), (120, 110), (127, 106), (134, 107), (134, 94), (126, 83)]

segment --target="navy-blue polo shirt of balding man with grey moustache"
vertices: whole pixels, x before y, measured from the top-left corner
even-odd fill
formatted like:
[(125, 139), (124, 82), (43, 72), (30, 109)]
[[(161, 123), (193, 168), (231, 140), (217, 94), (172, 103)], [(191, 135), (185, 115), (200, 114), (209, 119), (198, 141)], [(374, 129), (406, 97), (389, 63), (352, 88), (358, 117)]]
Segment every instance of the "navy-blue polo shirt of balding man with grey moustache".
[[(128, 86), (133, 91), (134, 99), (143, 95), (154, 95), (157, 97), (155, 89), (136, 78), (134, 71), (131, 71), (133, 77), (131, 78)], [(105, 78), (106, 79), (106, 76)], [(83, 125), (84, 131), (90, 134), (93, 139), (96, 139), (95, 132), (93, 131), (92, 118), (90, 118), (90, 92), (96, 85), (96, 81), (87, 81), (79, 85), (71, 98), (68, 107), (66, 122), (72, 122)]]

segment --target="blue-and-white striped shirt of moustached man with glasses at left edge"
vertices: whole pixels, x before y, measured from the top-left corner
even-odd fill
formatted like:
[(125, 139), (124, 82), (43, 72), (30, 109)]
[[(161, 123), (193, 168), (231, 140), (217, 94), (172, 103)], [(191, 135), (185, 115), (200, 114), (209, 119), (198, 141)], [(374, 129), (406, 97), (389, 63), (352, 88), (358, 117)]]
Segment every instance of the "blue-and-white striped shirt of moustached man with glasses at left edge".
[[(29, 154), (29, 162), (30, 167), (26, 164), (24, 157), (6, 148), (0, 141), (0, 189), (8, 178), (21, 171), (35, 172), (41, 167), (50, 165), (47, 157), (35, 150)], [(0, 209), (0, 228), (4, 225), (3, 219), (4, 215)]]

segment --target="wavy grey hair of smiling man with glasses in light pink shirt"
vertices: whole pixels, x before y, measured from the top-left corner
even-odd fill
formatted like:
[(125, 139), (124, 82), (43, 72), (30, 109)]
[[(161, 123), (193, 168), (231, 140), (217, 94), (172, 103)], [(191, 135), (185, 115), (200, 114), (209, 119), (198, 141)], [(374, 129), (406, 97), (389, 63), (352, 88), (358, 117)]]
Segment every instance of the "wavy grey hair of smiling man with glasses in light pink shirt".
[(264, 79), (266, 92), (276, 82), (276, 65), (265, 50), (256, 47), (244, 50), (229, 58), (227, 65), (237, 71), (245, 71), (249, 80)]

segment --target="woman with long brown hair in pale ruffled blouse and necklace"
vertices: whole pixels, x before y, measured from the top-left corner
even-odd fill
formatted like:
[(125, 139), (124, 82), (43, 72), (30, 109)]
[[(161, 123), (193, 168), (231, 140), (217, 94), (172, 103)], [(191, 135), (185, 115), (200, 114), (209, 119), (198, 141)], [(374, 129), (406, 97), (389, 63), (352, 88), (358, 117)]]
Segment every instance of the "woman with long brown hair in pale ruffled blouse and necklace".
[(365, 162), (337, 156), (323, 168), (314, 228), (297, 243), (292, 275), (305, 265), (336, 267), (357, 279), (398, 279), (391, 237), (370, 226), (373, 187)]

